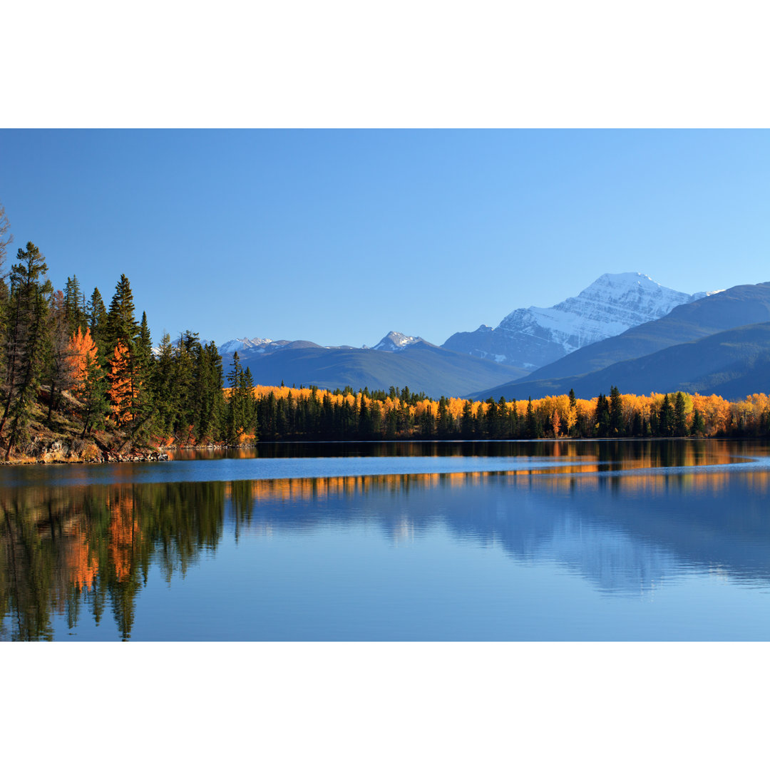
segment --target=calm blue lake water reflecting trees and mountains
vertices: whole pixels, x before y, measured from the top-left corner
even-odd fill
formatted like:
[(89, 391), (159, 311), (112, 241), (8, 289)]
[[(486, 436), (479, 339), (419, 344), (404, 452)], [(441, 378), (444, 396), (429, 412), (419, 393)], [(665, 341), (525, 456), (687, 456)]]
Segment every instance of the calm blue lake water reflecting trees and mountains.
[(265, 444), (0, 468), (0, 639), (768, 640), (770, 454)]

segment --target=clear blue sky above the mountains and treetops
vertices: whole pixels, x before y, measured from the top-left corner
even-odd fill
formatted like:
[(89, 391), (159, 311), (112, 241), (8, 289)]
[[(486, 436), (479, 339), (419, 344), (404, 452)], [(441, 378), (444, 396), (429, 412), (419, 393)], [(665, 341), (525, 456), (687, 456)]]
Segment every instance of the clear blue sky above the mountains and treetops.
[(108, 306), (126, 273), (155, 342), (440, 344), (606, 272), (770, 280), (767, 131), (2, 130), (0, 200), (12, 256)]

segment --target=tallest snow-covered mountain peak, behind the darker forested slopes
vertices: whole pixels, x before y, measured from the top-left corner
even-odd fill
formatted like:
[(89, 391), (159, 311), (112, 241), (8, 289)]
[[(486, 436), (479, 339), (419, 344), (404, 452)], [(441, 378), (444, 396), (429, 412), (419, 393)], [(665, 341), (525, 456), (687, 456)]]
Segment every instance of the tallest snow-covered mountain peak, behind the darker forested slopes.
[(514, 310), (497, 328), (450, 336), (443, 347), (535, 370), (578, 348), (662, 318), (707, 293), (685, 294), (644, 273), (604, 273), (577, 296), (553, 307)]

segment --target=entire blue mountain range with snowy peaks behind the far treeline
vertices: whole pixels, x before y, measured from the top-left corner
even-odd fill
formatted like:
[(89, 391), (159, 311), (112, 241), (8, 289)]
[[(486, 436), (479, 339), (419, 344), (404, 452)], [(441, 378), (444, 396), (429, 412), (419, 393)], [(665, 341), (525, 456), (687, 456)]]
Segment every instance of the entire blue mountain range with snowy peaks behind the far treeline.
[(255, 383), (387, 390), (495, 399), (567, 393), (689, 390), (742, 398), (767, 391), (770, 283), (687, 294), (643, 273), (605, 273), (551, 308), (514, 310), (493, 328), (444, 345), (391, 331), (368, 348), (243, 337), (233, 352)]

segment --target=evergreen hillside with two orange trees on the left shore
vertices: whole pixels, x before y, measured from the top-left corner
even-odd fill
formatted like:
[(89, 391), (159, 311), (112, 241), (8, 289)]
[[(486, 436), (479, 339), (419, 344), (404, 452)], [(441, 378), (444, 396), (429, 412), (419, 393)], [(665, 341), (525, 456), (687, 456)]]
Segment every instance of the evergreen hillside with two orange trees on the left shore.
[[(108, 308), (98, 288), (86, 298), (75, 275), (64, 290), (55, 289), (34, 243), (18, 249), (8, 270), (10, 243), (0, 209), (3, 459), (30, 454), (41, 438), (119, 450), (166, 444), (174, 436), (209, 441), (243, 434), (248, 426), (239, 422), (239, 399), (224, 397), (215, 343), (203, 346), (188, 331), (172, 346), (166, 335), (155, 355), (146, 313), (136, 320), (125, 275)], [(253, 384), (237, 365), (228, 380), (242, 389)], [(89, 451), (81, 458), (92, 459)]]

